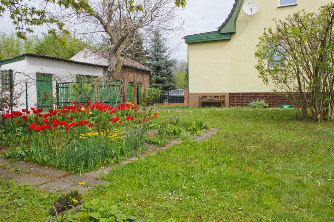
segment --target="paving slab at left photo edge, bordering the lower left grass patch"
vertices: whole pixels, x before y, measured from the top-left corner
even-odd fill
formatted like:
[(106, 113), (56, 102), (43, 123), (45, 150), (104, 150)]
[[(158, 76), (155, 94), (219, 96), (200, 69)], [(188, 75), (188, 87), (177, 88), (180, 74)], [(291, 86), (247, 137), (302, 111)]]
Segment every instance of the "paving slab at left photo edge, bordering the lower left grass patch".
[(5, 180), (14, 180), (16, 183), (28, 184), (30, 186), (41, 185), (50, 181), (50, 179), (30, 174), (20, 175), (4, 168), (0, 168), (0, 176)]

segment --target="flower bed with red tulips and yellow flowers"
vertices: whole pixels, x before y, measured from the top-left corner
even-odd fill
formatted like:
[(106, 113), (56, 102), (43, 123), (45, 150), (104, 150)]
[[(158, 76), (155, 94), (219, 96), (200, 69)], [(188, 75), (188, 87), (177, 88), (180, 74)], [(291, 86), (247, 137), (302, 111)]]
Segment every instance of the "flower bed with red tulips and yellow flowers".
[(32, 107), (1, 115), (0, 132), (11, 140), (5, 158), (83, 173), (139, 152), (144, 140), (162, 145), (172, 138), (189, 139), (205, 128), (201, 121), (176, 117), (158, 122), (157, 113), (139, 111), (133, 103), (112, 107), (73, 101), (72, 106), (42, 111)]

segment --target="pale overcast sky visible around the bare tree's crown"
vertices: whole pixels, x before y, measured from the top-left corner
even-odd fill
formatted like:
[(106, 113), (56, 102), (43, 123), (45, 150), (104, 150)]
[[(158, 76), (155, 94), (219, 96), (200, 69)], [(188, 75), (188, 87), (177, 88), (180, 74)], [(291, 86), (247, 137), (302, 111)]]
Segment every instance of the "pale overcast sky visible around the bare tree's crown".
[[(235, 0), (188, 0), (184, 10), (179, 11), (179, 16), (185, 22), (184, 35), (192, 35), (203, 32), (216, 31), (229, 14)], [(34, 34), (46, 32), (45, 26), (33, 27)], [(0, 17), (0, 31), (10, 33), (14, 30), (8, 13)], [(169, 47), (175, 48), (180, 43), (180, 38), (170, 40)], [(182, 40), (173, 57), (180, 60), (187, 59), (187, 45)]]

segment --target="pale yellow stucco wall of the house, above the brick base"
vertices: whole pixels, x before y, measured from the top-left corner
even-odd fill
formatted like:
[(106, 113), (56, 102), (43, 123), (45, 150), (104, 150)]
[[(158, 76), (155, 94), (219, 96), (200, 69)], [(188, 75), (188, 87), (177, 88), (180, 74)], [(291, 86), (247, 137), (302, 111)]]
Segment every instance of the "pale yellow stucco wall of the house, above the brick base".
[(272, 92), (273, 87), (265, 85), (255, 69), (254, 53), (264, 28), (275, 26), (273, 18), (284, 19), (302, 9), (317, 11), (320, 6), (334, 2), (298, 0), (298, 5), (278, 7), (278, 1), (256, 0), (259, 11), (251, 17), (241, 8), (236, 34), (232, 34), (231, 40), (188, 44), (189, 93)]

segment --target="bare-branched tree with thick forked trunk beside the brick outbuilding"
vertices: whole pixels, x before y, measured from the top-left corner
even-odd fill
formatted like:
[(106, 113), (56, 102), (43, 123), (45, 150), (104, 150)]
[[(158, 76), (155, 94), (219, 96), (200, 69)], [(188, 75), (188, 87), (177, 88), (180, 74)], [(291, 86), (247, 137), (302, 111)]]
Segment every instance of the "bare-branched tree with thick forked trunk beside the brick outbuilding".
[[(67, 29), (75, 27), (77, 35), (102, 45), (98, 50), (109, 54), (108, 78), (113, 79), (123, 66), (121, 55), (134, 56), (129, 49), (136, 42), (145, 44), (153, 33), (170, 36), (175, 30), (182, 30), (183, 22), (175, 19), (176, 10), (184, 7), (184, 3), (184, 0), (89, 0), (84, 6), (61, 7), (53, 13), (64, 21)], [(107, 46), (101, 44), (106, 39)]]

